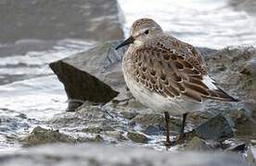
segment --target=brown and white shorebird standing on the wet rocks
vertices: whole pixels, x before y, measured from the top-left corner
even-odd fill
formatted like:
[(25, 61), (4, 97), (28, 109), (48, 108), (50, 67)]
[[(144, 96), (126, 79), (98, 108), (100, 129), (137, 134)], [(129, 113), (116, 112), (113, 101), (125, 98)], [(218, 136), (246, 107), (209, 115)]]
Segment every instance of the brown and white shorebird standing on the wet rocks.
[(203, 57), (192, 45), (163, 32), (151, 18), (140, 18), (131, 36), (117, 48), (130, 44), (122, 58), (122, 73), (137, 101), (164, 113), (166, 146), (170, 148), (170, 114), (183, 115), (179, 139), (184, 139), (187, 113), (203, 111), (203, 101), (237, 101), (208, 75)]

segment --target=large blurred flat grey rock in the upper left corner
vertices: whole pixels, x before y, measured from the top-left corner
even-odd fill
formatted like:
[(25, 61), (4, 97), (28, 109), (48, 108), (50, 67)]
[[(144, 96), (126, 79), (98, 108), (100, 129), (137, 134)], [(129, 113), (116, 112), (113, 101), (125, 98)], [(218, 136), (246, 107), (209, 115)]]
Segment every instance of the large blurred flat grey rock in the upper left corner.
[(116, 0), (2, 0), (0, 42), (121, 39), (119, 10)]

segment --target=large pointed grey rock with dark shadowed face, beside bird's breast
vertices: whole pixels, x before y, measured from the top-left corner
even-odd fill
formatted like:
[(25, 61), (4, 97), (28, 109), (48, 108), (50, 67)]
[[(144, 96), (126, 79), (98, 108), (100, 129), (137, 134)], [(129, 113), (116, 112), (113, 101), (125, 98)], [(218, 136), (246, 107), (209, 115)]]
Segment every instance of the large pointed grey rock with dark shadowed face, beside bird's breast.
[[(50, 64), (64, 84), (70, 104), (72, 101), (106, 103), (119, 94), (125, 83), (121, 71), (124, 50), (114, 51), (118, 43), (99, 44)], [(75, 105), (72, 104), (70, 108), (73, 111)]]

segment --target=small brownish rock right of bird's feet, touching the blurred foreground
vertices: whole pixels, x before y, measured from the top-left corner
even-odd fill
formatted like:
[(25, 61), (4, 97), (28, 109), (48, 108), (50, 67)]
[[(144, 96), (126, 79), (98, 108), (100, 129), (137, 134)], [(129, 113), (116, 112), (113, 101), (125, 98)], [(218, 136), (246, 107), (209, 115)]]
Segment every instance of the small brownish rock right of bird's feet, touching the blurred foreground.
[(213, 148), (205, 140), (195, 136), (186, 144), (185, 150), (209, 151)]

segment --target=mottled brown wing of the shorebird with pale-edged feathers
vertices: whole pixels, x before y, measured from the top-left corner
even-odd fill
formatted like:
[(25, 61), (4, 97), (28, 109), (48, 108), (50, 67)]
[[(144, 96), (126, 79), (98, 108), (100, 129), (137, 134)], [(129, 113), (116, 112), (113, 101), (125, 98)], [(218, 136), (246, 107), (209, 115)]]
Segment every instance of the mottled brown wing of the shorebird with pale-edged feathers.
[(223, 91), (210, 90), (202, 82), (206, 71), (198, 70), (179, 53), (145, 47), (132, 56), (135, 80), (164, 97), (186, 97), (198, 102), (203, 98), (225, 100), (229, 97)]

